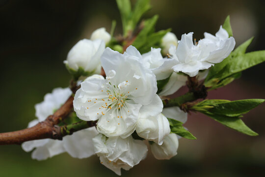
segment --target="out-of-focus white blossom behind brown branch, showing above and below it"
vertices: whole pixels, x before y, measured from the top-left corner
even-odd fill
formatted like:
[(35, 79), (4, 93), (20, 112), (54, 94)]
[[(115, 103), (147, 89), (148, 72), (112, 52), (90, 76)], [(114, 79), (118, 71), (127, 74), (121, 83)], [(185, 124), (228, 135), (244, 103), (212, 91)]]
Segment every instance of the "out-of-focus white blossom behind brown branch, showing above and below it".
[[(69, 88), (53, 89), (52, 93), (46, 94), (44, 101), (35, 105), (38, 119), (30, 121), (28, 127), (32, 127), (52, 115), (71, 94), (72, 91)], [(97, 134), (96, 128), (90, 127), (75, 132), (73, 135), (65, 136), (62, 141), (52, 139), (33, 140), (23, 143), (22, 148), (27, 152), (35, 148), (31, 157), (37, 160), (45, 160), (63, 152), (68, 152), (73, 157), (85, 158), (94, 154), (92, 138)]]

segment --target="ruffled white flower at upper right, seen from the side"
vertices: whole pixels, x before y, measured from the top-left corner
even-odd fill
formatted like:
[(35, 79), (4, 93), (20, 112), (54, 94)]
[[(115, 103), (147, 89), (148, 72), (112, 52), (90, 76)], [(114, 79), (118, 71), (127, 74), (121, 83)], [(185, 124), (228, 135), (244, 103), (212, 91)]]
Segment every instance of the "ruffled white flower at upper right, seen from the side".
[(172, 67), (174, 71), (182, 71), (190, 77), (196, 76), (199, 70), (208, 69), (214, 63), (227, 58), (236, 44), (235, 39), (229, 37), (222, 26), (215, 36), (205, 32), (205, 38), (199, 40), (197, 45), (193, 44), (192, 34), (193, 32), (183, 34), (178, 48), (171, 46), (169, 49), (171, 57), (178, 62)]

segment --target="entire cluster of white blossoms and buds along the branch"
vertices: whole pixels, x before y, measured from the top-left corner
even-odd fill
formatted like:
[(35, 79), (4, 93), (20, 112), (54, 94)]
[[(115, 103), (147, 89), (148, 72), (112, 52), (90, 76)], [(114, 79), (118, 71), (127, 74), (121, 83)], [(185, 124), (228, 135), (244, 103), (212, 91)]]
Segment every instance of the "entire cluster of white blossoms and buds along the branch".
[[(185, 123), (187, 114), (179, 107), (163, 109), (162, 96), (185, 85), (186, 76), (178, 72), (196, 76), (199, 70), (225, 59), (235, 46), (234, 38), (229, 38), (222, 27), (216, 36), (205, 33), (205, 38), (195, 45), (192, 33), (183, 34), (180, 41), (173, 33), (166, 34), (161, 45), (162, 53), (169, 53), (169, 58), (162, 57), (161, 49), (152, 48), (141, 55), (133, 46), (120, 54), (105, 49), (109, 40), (104, 28), (97, 29), (91, 40), (80, 40), (65, 61), (74, 71), (81, 68), (92, 75), (99, 74), (103, 67), (106, 73), (106, 78), (93, 75), (81, 82), (73, 101), (77, 117), (97, 121), (96, 127), (77, 131), (62, 141), (26, 142), (22, 146), (26, 151), (36, 148), (32, 158), (42, 160), (62, 152), (85, 158), (96, 153), (103, 165), (120, 175), (121, 168), (129, 170), (146, 157), (148, 148), (144, 141), (148, 140), (157, 159), (170, 159), (177, 154), (179, 143), (178, 136), (170, 133), (167, 118)], [(204, 79), (207, 70), (200, 73), (198, 79)], [(166, 79), (167, 83), (158, 92), (157, 81)], [(35, 107), (38, 120), (28, 126), (43, 121), (69, 95), (70, 89), (54, 89), (47, 94), (44, 102)]]

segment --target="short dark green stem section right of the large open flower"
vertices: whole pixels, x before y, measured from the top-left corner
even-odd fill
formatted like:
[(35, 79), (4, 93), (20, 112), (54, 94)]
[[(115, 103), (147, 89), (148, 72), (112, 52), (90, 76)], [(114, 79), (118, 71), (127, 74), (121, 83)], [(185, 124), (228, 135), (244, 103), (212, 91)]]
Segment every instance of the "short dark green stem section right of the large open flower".
[(181, 106), (186, 102), (195, 101), (197, 98), (194, 96), (193, 92), (187, 92), (184, 95), (181, 95), (177, 98), (173, 98), (170, 100), (163, 100), (164, 108), (173, 107), (173, 106)]

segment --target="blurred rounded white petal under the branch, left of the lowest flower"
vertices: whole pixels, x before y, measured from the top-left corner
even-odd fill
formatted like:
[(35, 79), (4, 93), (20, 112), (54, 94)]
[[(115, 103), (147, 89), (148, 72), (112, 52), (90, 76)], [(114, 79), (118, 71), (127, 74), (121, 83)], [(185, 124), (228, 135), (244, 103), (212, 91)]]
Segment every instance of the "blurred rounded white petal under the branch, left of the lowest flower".
[(63, 137), (63, 147), (72, 157), (90, 157), (95, 153), (92, 139), (97, 134), (98, 131), (95, 127), (79, 130), (72, 135)]

